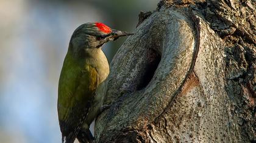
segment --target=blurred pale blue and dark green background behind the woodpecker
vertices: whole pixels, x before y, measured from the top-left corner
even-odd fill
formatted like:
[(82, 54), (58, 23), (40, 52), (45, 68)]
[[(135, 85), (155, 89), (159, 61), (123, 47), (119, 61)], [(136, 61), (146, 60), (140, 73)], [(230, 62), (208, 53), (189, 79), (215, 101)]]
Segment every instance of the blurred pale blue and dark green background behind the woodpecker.
[[(57, 87), (69, 38), (85, 22), (135, 32), (159, 0), (0, 0), (0, 142), (61, 142)], [(125, 38), (104, 46), (110, 62)]]

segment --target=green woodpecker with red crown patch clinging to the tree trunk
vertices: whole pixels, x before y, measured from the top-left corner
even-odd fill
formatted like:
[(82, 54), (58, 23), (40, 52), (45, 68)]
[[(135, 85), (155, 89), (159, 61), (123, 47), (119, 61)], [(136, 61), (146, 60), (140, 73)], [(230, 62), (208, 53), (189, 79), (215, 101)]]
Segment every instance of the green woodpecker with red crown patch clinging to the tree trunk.
[[(107, 78), (108, 61), (101, 48), (132, 33), (112, 29), (105, 24), (85, 23), (74, 30), (60, 73), (58, 116), (62, 142), (93, 142), (91, 122), (101, 113), (103, 95), (96, 88)], [(103, 108), (102, 108), (103, 107)]]

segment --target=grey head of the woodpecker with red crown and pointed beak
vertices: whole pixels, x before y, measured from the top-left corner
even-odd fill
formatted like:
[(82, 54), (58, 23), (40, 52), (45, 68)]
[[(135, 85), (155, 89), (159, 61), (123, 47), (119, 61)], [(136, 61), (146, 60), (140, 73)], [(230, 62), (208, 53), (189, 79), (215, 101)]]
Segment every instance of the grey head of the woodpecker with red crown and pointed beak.
[(85, 23), (76, 28), (70, 44), (77, 48), (101, 48), (105, 42), (128, 35), (133, 33), (121, 32), (99, 22)]

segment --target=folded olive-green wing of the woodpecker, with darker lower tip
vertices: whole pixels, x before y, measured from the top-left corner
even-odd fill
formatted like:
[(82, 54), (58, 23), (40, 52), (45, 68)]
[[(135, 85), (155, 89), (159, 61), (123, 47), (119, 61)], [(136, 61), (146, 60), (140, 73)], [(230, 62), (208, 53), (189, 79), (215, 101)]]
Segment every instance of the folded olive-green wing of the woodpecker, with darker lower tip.
[(68, 136), (82, 124), (98, 81), (96, 68), (88, 64), (80, 66), (70, 59), (65, 59), (58, 94), (60, 130), (64, 136)]

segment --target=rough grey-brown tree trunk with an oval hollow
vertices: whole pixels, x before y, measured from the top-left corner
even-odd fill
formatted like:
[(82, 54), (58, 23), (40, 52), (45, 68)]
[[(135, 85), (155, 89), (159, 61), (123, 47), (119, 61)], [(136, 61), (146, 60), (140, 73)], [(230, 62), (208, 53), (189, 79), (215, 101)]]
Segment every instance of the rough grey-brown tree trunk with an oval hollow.
[(96, 142), (256, 142), (255, 5), (161, 1), (110, 64)]

